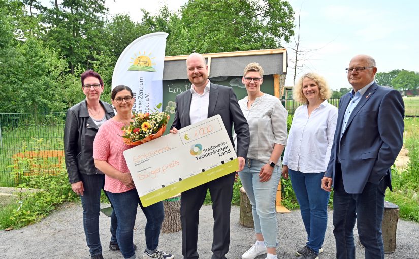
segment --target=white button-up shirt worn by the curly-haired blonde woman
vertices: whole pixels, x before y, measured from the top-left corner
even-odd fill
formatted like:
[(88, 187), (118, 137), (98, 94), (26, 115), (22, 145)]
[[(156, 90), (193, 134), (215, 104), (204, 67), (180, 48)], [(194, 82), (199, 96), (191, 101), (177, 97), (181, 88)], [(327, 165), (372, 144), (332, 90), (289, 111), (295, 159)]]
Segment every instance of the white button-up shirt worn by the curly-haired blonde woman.
[(323, 101), (308, 116), (307, 105), (298, 107), (289, 130), (284, 165), (302, 173), (325, 172), (330, 159), (338, 108)]

